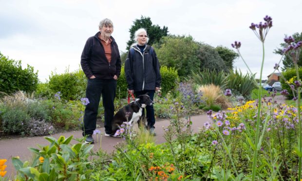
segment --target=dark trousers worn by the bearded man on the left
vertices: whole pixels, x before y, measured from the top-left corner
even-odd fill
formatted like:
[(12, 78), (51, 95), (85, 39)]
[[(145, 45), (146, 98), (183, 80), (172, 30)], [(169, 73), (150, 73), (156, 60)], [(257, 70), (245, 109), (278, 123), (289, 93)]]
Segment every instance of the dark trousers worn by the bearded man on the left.
[(116, 80), (110, 79), (88, 79), (86, 97), (89, 104), (86, 106), (84, 114), (83, 136), (91, 135), (96, 128), (96, 116), (100, 98), (102, 95), (105, 109), (105, 132), (111, 134), (112, 119), (114, 114), (114, 98), (116, 93)]

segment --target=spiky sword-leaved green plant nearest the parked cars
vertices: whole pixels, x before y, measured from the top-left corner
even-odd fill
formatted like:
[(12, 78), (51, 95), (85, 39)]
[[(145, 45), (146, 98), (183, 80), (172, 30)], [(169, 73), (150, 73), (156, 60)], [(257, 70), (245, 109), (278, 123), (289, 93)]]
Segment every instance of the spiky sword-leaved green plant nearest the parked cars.
[(227, 79), (227, 88), (237, 90), (245, 99), (250, 99), (252, 90), (256, 88), (255, 74), (246, 73), (244, 75), (236, 69), (235, 72), (229, 72)]

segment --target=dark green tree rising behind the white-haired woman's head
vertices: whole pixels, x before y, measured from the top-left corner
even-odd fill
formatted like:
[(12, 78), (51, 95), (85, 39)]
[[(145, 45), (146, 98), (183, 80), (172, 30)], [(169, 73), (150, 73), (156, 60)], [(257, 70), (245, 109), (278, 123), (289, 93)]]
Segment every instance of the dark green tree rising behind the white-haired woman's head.
[(168, 35), (168, 27), (164, 26), (162, 29), (158, 25), (152, 25), (150, 17), (141, 16), (140, 19), (135, 19), (133, 25), (129, 29), (130, 40), (127, 42), (127, 51), (130, 49), (130, 46), (134, 43), (133, 37), (136, 30), (139, 28), (145, 28), (149, 36), (149, 45), (153, 45), (158, 42), (161, 37)]

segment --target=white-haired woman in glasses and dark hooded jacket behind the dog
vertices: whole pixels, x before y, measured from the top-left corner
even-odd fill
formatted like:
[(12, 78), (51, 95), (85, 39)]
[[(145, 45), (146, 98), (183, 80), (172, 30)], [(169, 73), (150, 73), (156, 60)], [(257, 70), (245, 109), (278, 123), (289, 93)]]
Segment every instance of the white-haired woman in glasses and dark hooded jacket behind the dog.
[[(125, 61), (128, 92), (134, 93), (136, 97), (148, 93), (153, 101), (154, 93), (160, 90), (161, 84), (158, 58), (153, 47), (147, 45), (149, 38), (145, 29), (138, 29), (134, 33), (134, 40), (136, 43), (132, 45)], [(146, 111), (147, 129), (155, 136), (153, 106), (147, 106)]]

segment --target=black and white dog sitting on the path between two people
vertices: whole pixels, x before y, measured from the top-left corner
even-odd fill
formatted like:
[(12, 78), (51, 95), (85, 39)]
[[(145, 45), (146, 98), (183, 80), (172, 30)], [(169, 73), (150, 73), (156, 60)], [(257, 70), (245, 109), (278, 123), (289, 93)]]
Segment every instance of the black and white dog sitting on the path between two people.
[(128, 122), (128, 124), (131, 125), (137, 123), (142, 116), (143, 108), (153, 104), (154, 102), (151, 100), (150, 96), (143, 94), (138, 96), (135, 101), (132, 101), (122, 109), (119, 109), (113, 116), (112, 133), (114, 134), (116, 130), (119, 129), (123, 124), (123, 122)]

